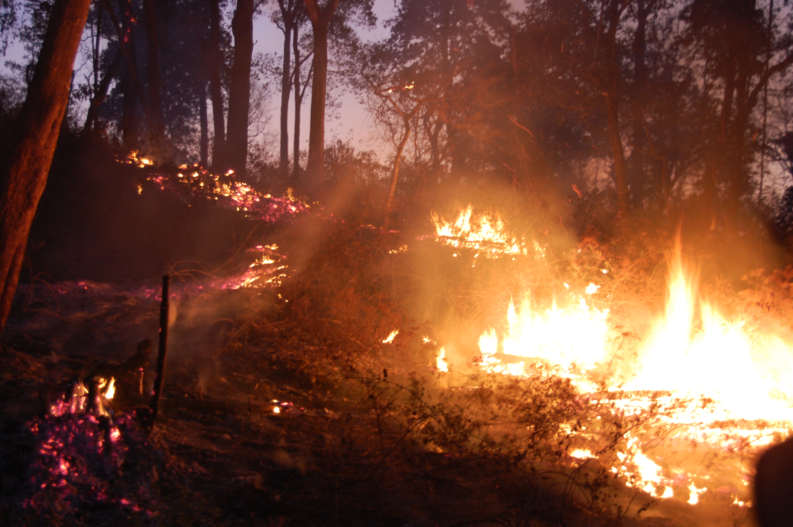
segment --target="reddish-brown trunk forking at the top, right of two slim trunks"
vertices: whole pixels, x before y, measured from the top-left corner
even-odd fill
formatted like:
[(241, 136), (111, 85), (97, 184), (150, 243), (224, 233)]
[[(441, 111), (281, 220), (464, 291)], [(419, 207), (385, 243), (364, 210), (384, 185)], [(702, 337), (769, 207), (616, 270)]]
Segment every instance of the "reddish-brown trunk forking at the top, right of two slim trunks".
[(308, 186), (319, 192), (325, 182), (325, 97), (328, 94), (328, 28), (339, 0), (320, 7), (317, 0), (304, 0), (314, 32), (314, 78), (311, 86), (311, 116), (308, 129)]

